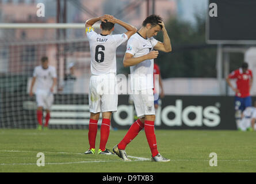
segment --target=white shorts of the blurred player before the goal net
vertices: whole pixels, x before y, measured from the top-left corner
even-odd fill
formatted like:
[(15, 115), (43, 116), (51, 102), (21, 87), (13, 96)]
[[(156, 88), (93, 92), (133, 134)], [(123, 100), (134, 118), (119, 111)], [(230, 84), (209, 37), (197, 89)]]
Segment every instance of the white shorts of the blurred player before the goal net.
[(36, 103), (37, 107), (42, 106), (44, 109), (50, 110), (52, 104), (54, 103), (54, 94), (47, 91), (37, 91)]

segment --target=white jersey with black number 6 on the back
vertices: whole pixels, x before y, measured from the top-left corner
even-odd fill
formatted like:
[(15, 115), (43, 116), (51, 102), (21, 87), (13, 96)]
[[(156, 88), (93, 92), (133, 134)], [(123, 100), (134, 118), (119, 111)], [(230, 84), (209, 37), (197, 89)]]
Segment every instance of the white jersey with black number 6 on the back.
[(128, 36), (125, 33), (97, 34), (92, 27), (86, 28), (86, 33), (90, 43), (91, 74), (116, 73), (116, 49), (128, 39)]

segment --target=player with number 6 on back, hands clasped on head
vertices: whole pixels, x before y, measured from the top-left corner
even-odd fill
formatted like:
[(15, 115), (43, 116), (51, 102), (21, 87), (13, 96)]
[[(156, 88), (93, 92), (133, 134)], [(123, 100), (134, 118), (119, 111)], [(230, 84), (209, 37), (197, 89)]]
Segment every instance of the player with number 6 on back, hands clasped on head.
[[(93, 24), (101, 21), (101, 34), (94, 32)], [(114, 24), (123, 26), (128, 32), (111, 34)], [(90, 44), (91, 78), (89, 88), (89, 144), (85, 154), (95, 154), (95, 139), (98, 129), (98, 119), (102, 112), (101, 140), (98, 154), (111, 155), (106, 149), (109, 137), (112, 112), (117, 110), (116, 87), (116, 49), (136, 32), (136, 28), (110, 15), (91, 18), (86, 21), (86, 34)]]

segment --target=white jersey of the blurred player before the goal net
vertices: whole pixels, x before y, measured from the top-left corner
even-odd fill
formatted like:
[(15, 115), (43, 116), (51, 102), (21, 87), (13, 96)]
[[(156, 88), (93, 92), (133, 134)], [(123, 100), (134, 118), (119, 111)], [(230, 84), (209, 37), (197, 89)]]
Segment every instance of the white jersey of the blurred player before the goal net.
[(42, 90), (49, 92), (52, 86), (52, 78), (57, 78), (56, 69), (53, 66), (48, 66), (44, 69), (41, 65), (35, 67), (33, 76), (36, 77), (36, 91)]

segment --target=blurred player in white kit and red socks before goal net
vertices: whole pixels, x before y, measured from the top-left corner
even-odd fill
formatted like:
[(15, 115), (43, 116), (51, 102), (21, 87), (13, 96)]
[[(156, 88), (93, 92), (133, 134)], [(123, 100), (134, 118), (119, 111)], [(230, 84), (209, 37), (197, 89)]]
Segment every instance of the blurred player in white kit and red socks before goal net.
[(50, 119), (50, 109), (54, 102), (54, 87), (57, 83), (56, 69), (48, 65), (48, 57), (41, 58), (41, 65), (35, 67), (33, 72), (32, 83), (29, 95), (33, 95), (33, 86), (36, 85), (36, 102), (37, 102), (37, 129), (41, 130), (43, 125), (43, 110), (46, 111), (44, 129), (48, 128)]

